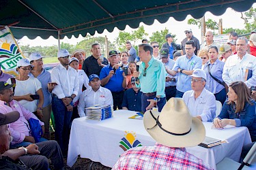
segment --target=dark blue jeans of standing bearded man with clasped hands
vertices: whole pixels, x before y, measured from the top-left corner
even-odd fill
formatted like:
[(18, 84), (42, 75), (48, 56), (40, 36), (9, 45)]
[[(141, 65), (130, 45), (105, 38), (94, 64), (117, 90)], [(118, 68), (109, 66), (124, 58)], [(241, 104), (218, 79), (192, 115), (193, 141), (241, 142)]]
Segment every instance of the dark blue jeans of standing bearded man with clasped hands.
[[(73, 106), (73, 103), (71, 102), (70, 105)], [(70, 139), (72, 112), (68, 112), (62, 100), (56, 95), (53, 95), (52, 110), (55, 118), (55, 140), (59, 143), (63, 154), (66, 154)]]

